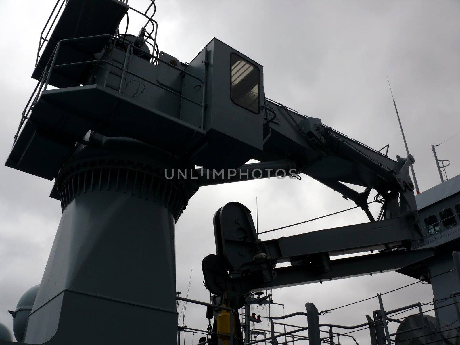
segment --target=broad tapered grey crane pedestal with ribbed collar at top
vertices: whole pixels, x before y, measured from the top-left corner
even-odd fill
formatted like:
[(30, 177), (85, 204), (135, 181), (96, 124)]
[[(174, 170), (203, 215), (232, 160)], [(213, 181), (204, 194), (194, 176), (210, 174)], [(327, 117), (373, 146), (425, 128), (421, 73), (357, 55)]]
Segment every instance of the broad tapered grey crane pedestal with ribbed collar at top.
[(25, 343), (175, 342), (174, 225), (195, 189), (164, 177), (172, 164), (85, 147), (63, 167)]

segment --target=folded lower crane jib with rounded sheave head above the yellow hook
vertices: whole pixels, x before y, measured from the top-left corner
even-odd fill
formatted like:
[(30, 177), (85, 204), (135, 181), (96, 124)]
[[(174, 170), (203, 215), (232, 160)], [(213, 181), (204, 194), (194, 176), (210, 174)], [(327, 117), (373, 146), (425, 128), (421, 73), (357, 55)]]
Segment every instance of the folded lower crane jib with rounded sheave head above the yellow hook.
[[(206, 287), (217, 295), (227, 290), (237, 306), (248, 291), (396, 270), (434, 256), (432, 249), (406, 250), (420, 237), (404, 218), (258, 241), (250, 211), (230, 202), (216, 212), (214, 233), (217, 255), (202, 263)], [(392, 246), (400, 249), (330, 261), (334, 254)], [(286, 261), (292, 265), (276, 268)]]

